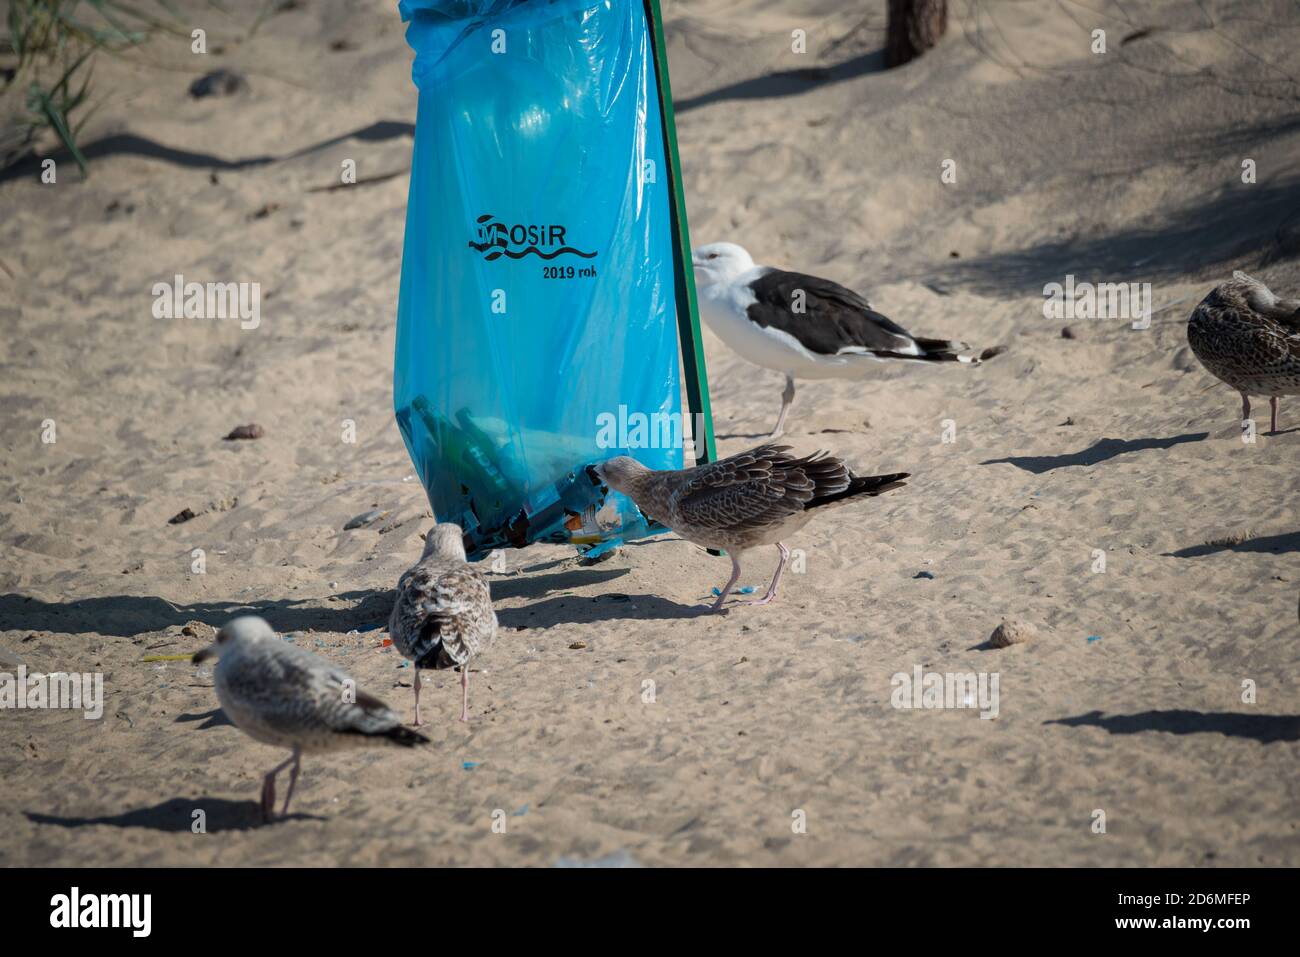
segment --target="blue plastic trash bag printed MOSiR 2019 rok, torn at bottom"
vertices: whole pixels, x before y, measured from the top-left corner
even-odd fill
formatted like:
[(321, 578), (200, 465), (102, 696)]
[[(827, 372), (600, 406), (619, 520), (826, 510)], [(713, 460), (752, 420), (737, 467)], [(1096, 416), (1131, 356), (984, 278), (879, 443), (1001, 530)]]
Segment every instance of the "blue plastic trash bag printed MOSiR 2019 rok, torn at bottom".
[(420, 104), (393, 398), (434, 515), (465, 529), (471, 558), (662, 532), (585, 472), (628, 445), (651, 468), (682, 467), (642, 4), (398, 7)]

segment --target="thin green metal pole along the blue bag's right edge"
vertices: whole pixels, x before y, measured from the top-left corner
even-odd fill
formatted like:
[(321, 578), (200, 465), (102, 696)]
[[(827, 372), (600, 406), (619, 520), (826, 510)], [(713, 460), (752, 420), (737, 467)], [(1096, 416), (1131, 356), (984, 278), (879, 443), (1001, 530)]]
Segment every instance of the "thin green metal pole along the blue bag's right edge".
[(663, 14), (659, 0), (645, 0), (654, 49), (654, 72), (659, 81), (659, 116), (663, 120), (663, 151), (668, 161), (668, 195), (672, 218), (672, 248), (677, 259), (675, 294), (677, 337), (681, 339), (681, 371), (686, 380), (686, 407), (696, 430), (696, 464), (715, 462), (714, 411), (708, 404), (708, 371), (705, 368), (705, 341), (699, 334), (699, 307), (696, 302), (696, 270), (690, 264), (690, 230), (686, 228), (686, 194), (681, 189), (681, 163), (677, 159), (677, 125), (672, 114), (672, 86), (668, 83), (668, 46), (663, 40)]

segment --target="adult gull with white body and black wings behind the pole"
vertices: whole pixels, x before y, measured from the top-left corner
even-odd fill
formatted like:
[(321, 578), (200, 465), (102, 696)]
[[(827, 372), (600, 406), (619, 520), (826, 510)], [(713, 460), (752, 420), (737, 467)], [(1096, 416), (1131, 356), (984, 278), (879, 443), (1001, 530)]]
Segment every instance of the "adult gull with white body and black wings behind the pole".
[(965, 342), (913, 335), (861, 295), (831, 280), (754, 265), (736, 243), (710, 243), (692, 263), (699, 315), (744, 359), (785, 374), (781, 413), (768, 439), (785, 428), (796, 378), (861, 378), (875, 361), (970, 363)]

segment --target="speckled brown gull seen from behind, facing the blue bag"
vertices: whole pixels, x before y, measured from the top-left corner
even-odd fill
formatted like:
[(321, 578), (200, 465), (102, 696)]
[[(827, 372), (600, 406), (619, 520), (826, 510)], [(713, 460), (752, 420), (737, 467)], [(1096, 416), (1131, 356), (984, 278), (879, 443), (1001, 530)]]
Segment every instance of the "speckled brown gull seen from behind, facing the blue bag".
[(469, 659), (497, 636), (497, 612), (486, 579), (465, 563), (460, 525), (429, 529), (424, 555), (398, 581), (389, 636), (415, 667), (415, 726), (421, 668), (460, 667), (460, 720), (469, 720)]

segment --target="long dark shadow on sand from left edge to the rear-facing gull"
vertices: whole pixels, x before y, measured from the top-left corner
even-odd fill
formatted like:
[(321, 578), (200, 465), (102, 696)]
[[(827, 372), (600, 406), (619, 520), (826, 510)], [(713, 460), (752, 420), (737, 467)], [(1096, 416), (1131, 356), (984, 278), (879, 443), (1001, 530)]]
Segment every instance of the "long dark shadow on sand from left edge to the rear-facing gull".
[[(365, 631), (384, 625), (393, 611), (391, 589), (341, 592), (334, 596), (347, 606), (307, 605), (296, 599), (172, 602), (157, 596), (118, 594), (47, 602), (25, 594), (0, 594), (0, 622), (13, 631), (46, 631), (75, 635), (95, 632), (135, 637), (188, 622), (220, 628), (237, 615), (261, 615), (278, 632)], [(320, 599), (307, 599), (317, 602)]]

